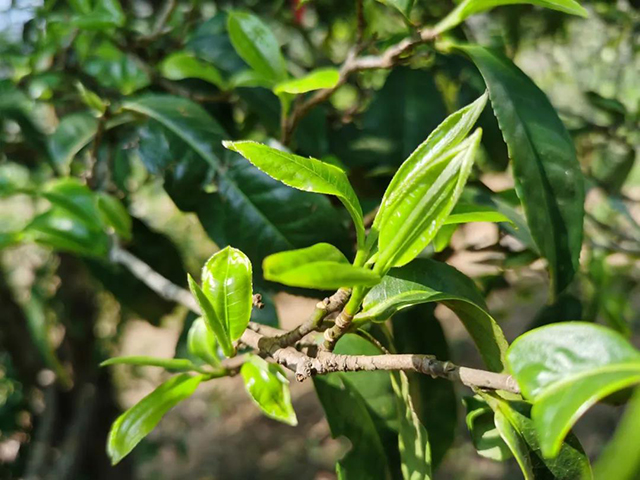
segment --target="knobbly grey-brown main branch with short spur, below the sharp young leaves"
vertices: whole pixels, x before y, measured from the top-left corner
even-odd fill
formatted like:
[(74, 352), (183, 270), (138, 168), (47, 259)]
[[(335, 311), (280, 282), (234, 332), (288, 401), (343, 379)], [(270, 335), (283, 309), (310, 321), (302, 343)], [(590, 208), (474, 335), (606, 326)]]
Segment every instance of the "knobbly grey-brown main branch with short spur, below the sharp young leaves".
[[(116, 245), (111, 250), (110, 258), (112, 262), (129, 269), (133, 275), (164, 299), (179, 303), (195, 313), (201, 313), (200, 307), (187, 290), (173, 284), (135, 255)], [(342, 311), (349, 299), (349, 294), (348, 290), (340, 289), (331, 297), (319, 302), (314, 312), (301, 325), (289, 332), (249, 322), (249, 327), (242, 334), (240, 343), (263, 356), (271, 357), (275, 362), (291, 370), (299, 382), (315, 375), (332, 372), (402, 370), (446, 378), (470, 388), (520, 392), (517, 383), (510, 375), (460, 367), (451, 362), (437, 360), (431, 355), (339, 355), (318, 351), (317, 348), (308, 348), (303, 352), (293, 346), (306, 335), (317, 330), (322, 320), (330, 313)], [(236, 359), (229, 361), (237, 362)]]

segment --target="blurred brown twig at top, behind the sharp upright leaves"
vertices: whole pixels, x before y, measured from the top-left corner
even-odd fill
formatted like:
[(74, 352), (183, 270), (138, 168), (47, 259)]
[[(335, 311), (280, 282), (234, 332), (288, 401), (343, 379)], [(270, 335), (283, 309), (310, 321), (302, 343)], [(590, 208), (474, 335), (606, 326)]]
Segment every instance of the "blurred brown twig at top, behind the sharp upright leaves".
[(414, 36), (405, 38), (404, 40), (401, 40), (395, 45), (387, 48), (380, 55), (363, 56), (359, 56), (359, 53), (363, 48), (362, 41), (359, 41), (348, 53), (346, 60), (342, 64), (342, 67), (340, 68), (340, 77), (335, 86), (318, 90), (308, 99), (294, 105), (291, 115), (289, 115), (286, 122), (284, 122), (280, 139), (281, 143), (283, 145), (288, 145), (300, 121), (313, 107), (326, 101), (336, 90), (338, 90), (338, 88), (344, 85), (351, 74), (364, 70), (393, 68), (398, 65), (403, 55), (408, 54), (418, 45), (434, 41), (436, 37), (437, 32), (433, 28), (423, 28)]

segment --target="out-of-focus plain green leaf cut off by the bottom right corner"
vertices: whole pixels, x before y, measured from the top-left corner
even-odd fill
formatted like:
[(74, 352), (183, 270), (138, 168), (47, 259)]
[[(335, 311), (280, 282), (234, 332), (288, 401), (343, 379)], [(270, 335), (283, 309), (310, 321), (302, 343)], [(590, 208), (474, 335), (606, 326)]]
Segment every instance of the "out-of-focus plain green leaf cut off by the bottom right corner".
[(597, 480), (637, 479), (640, 474), (640, 389), (636, 388), (616, 433), (594, 466)]

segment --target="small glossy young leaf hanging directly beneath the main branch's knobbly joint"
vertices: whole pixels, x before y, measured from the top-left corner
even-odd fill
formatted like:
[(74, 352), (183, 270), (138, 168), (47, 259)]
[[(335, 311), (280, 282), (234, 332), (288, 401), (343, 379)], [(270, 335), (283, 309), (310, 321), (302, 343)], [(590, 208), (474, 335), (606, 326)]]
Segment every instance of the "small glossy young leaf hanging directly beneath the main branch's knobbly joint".
[(287, 425), (298, 424), (291, 405), (289, 381), (280, 365), (251, 355), (242, 364), (240, 375), (247, 392), (265, 415)]

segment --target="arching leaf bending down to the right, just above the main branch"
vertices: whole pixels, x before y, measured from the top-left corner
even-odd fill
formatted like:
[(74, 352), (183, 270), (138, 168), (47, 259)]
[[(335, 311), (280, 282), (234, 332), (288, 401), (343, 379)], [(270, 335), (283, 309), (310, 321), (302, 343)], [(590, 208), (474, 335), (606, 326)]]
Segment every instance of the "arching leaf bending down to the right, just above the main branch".
[(414, 260), (392, 269), (364, 299), (357, 323), (384, 321), (399, 310), (428, 302), (442, 302), (460, 318), (487, 366), (503, 370), (507, 341), (487, 311), (473, 281), (455, 268), (429, 259)]

